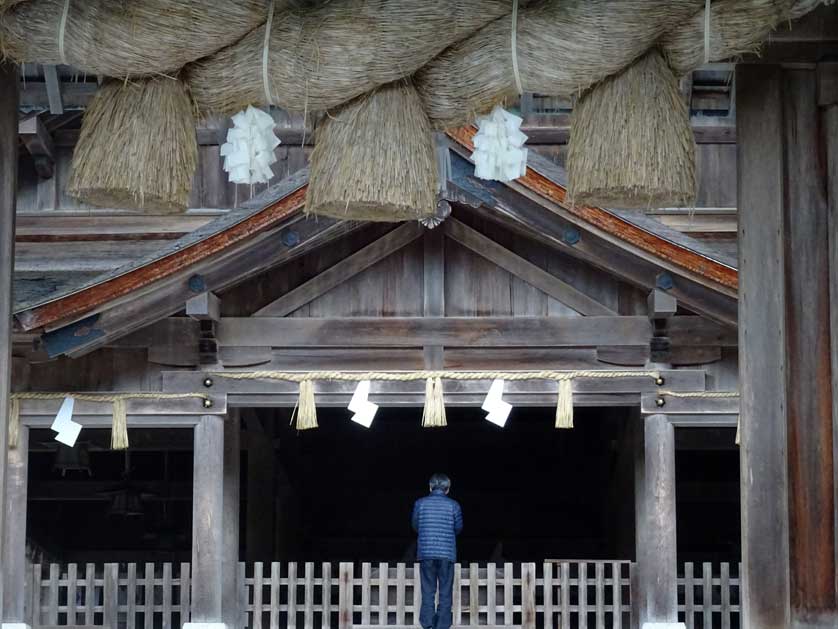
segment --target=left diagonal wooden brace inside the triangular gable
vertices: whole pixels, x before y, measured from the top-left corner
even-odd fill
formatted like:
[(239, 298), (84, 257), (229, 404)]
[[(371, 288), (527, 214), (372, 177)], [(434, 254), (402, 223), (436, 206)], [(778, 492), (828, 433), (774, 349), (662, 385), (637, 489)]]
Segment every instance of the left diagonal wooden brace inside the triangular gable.
[(260, 308), (253, 316), (284, 317), (291, 314), (410, 244), (421, 235), (422, 227), (418, 223), (405, 223), (323, 271), (320, 275)]

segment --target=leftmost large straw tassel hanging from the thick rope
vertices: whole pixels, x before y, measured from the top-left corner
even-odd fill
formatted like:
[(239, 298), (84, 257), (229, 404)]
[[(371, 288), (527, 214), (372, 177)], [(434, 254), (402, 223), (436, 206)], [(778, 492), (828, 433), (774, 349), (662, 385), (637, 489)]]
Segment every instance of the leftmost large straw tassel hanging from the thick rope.
[(104, 207), (180, 212), (198, 161), (192, 103), (180, 81), (110, 81), (91, 100), (67, 191)]

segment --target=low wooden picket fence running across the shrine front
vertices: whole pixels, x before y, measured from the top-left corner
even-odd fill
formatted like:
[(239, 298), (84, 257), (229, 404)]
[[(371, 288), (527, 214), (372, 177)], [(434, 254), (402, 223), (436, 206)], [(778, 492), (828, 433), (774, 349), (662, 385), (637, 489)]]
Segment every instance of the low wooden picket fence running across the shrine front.
[[(681, 619), (690, 629), (739, 626), (738, 569), (684, 565)], [(33, 628), (177, 629), (189, 618), (190, 565), (32, 566)], [(418, 564), (239, 564), (240, 626), (251, 629), (418, 627)], [(629, 629), (627, 561), (457, 564), (454, 626)]]

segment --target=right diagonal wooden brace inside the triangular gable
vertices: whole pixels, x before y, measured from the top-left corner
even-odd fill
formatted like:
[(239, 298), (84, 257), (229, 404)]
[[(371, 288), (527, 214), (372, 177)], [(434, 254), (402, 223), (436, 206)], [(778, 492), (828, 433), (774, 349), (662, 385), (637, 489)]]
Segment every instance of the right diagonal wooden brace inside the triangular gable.
[(453, 218), (445, 221), (443, 225), (445, 235), (455, 242), (498, 265), (530, 286), (573, 308), (576, 312), (583, 315), (617, 314), (574, 286), (509, 251), (509, 249), (468, 225)]

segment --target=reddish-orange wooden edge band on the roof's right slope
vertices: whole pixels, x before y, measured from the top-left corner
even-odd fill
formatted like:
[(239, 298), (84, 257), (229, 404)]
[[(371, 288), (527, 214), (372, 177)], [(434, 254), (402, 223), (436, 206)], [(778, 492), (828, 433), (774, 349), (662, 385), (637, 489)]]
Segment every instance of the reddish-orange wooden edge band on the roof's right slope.
[[(463, 127), (449, 131), (448, 136), (467, 150), (472, 151), (474, 150), (472, 138), (475, 132), (474, 127)], [(567, 190), (563, 186), (554, 183), (532, 168), (527, 169), (527, 174), (516, 181), (519, 185), (549, 199), (569, 214), (582, 219), (589, 225), (612, 234), (647, 253), (688, 269), (722, 286), (735, 289), (738, 284), (735, 269), (719, 264), (675, 243), (663, 240), (606, 210), (572, 205), (567, 200)]]

